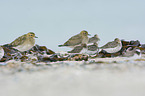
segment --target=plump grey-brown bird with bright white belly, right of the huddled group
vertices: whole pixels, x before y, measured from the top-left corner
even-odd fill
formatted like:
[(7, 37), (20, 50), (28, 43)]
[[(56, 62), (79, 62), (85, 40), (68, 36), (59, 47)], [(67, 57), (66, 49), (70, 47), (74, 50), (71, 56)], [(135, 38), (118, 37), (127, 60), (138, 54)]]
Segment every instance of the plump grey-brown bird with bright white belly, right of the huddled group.
[(116, 53), (116, 52), (120, 51), (121, 48), (122, 48), (122, 43), (119, 38), (115, 38), (114, 41), (108, 42), (104, 46), (99, 47), (99, 49), (103, 49), (108, 53)]

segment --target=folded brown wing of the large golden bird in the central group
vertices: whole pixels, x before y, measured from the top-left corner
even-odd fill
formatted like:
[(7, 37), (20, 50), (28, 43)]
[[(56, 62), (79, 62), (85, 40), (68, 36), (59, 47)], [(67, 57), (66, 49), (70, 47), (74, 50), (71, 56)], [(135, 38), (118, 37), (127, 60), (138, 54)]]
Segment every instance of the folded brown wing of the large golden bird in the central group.
[(82, 43), (82, 37), (80, 35), (75, 35), (71, 37), (68, 41), (66, 41), (63, 45), (64, 46), (74, 46), (79, 45)]

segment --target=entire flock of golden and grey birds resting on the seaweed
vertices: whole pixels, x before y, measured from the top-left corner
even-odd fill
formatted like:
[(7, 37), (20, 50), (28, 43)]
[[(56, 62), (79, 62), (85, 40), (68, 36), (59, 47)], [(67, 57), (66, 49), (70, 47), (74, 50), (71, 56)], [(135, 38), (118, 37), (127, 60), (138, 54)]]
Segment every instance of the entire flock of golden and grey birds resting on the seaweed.
[[(107, 53), (115, 53), (121, 50), (122, 42), (120, 39), (115, 38), (114, 41), (108, 42), (102, 47), (98, 47), (98, 42), (100, 38), (97, 34), (93, 37), (89, 38), (90, 34), (87, 31), (82, 30), (79, 34), (72, 36), (69, 40), (67, 40), (64, 44), (58, 45), (58, 47), (70, 47), (73, 48), (68, 53), (91, 53), (91, 54), (98, 54), (100, 51), (104, 50)], [(5, 44), (5, 47), (14, 48), (20, 52), (28, 51), (35, 45), (35, 33), (29, 32), (24, 34), (13, 42), (9, 44)], [(0, 46), (0, 58), (4, 56), (3, 46)]]

